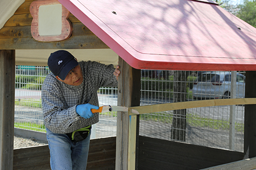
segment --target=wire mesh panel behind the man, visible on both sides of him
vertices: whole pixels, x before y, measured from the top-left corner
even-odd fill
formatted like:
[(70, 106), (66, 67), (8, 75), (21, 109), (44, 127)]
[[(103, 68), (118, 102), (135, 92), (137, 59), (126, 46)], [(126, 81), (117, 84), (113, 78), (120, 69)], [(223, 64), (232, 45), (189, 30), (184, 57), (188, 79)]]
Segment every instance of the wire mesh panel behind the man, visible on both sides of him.
[[(41, 108), (41, 86), (50, 72), (48, 67), (16, 66), (15, 75), (15, 127), (45, 131)], [(99, 105), (117, 105), (117, 87), (102, 87), (98, 90)], [(116, 136), (116, 113), (99, 116), (94, 125), (94, 138)]]

